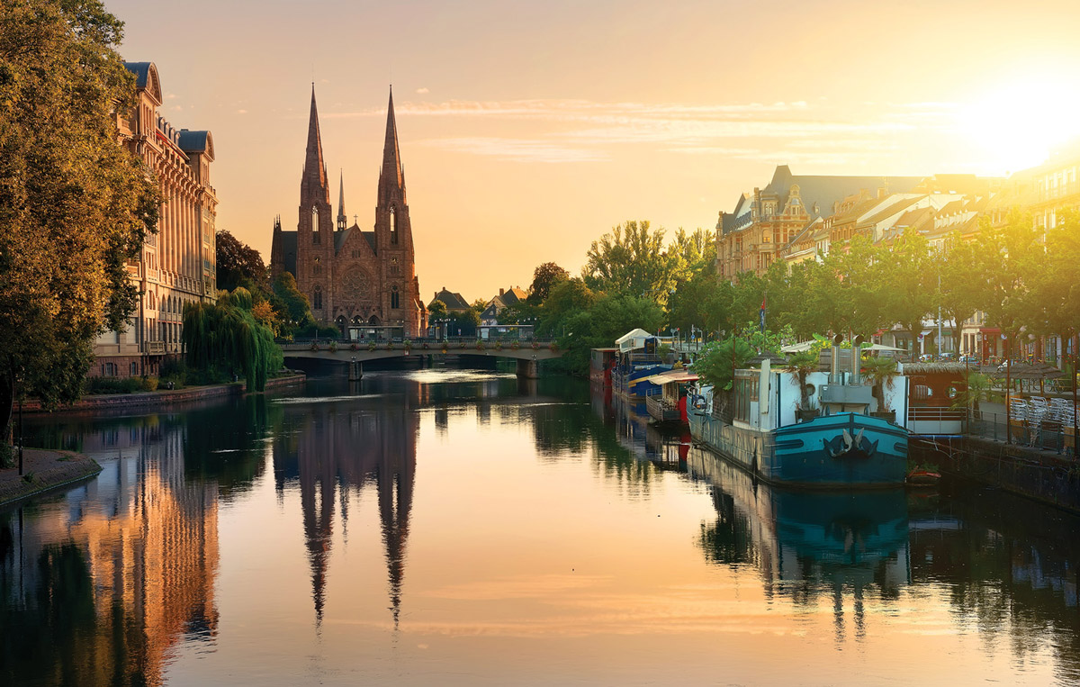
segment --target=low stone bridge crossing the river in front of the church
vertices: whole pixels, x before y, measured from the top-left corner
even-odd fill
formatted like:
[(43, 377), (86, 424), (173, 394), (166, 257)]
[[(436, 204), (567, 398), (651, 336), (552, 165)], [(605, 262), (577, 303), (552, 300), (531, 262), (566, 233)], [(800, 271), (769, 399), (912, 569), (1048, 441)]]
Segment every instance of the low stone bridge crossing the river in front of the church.
[(409, 339), (408, 341), (356, 341), (350, 339), (311, 339), (281, 344), (285, 358), (315, 359), (346, 363), (349, 379), (364, 374), (364, 362), (410, 355), (484, 355), (517, 361), (517, 376), (536, 379), (537, 363), (562, 358), (565, 351), (551, 339), (528, 341), (477, 341), (473, 338)]

